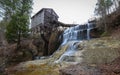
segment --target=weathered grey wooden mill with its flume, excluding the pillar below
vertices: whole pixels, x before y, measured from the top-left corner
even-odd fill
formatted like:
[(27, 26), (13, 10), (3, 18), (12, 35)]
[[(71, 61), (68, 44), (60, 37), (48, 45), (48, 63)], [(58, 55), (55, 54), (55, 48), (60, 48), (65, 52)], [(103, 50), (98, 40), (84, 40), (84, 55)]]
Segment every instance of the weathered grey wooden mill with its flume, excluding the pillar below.
[(32, 34), (39, 32), (50, 32), (56, 30), (59, 26), (69, 27), (72, 24), (64, 24), (58, 21), (59, 16), (51, 8), (43, 8), (31, 19)]

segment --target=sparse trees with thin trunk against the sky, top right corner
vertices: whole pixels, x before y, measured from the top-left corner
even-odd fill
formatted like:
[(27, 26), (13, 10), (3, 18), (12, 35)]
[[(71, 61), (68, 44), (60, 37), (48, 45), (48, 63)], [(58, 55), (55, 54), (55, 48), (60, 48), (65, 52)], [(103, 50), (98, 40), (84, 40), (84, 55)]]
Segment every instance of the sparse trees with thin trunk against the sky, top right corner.
[(95, 7), (95, 15), (102, 18), (102, 22), (104, 23), (103, 28), (104, 31), (108, 31), (108, 24), (107, 21), (107, 15), (111, 14), (112, 12), (115, 12), (119, 8), (120, 1), (119, 0), (97, 0), (96, 7)]

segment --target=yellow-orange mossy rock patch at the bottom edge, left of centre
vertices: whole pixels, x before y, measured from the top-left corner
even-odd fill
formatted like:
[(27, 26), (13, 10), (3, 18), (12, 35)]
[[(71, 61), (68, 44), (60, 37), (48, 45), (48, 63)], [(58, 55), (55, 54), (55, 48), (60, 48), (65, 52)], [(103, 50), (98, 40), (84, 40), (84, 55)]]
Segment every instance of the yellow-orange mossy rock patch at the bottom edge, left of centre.
[(30, 65), (25, 71), (16, 72), (14, 75), (59, 75), (58, 67), (43, 64), (41, 66)]

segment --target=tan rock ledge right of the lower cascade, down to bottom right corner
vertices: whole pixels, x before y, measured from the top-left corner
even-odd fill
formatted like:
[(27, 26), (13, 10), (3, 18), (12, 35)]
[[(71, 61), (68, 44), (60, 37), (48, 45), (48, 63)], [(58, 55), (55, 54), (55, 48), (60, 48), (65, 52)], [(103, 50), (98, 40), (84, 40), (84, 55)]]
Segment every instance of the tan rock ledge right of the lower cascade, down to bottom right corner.
[(82, 63), (60, 69), (60, 75), (120, 75), (120, 41), (110, 37), (84, 41)]

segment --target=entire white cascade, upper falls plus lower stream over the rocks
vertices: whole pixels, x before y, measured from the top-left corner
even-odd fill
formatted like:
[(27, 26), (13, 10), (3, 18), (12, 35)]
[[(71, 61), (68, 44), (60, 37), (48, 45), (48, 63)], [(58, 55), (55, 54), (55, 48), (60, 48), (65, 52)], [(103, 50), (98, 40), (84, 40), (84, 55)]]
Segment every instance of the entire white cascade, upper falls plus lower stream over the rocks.
[(74, 57), (74, 53), (77, 51), (76, 45), (82, 40), (90, 39), (90, 30), (94, 28), (94, 24), (88, 23), (84, 25), (76, 25), (74, 27), (70, 27), (66, 29), (63, 33), (63, 43), (62, 45), (68, 44), (68, 49), (66, 52), (55, 62), (62, 61), (73, 61), (71, 57)]

